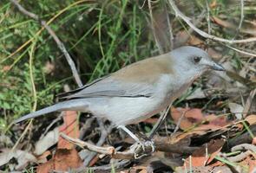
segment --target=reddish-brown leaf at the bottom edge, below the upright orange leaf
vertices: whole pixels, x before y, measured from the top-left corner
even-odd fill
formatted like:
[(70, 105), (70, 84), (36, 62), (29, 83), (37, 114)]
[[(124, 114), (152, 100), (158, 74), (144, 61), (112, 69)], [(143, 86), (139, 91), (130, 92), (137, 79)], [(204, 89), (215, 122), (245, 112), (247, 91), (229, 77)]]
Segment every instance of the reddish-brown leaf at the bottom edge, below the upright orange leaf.
[(82, 165), (82, 160), (75, 149), (57, 149), (56, 155), (47, 163), (39, 165), (36, 169), (37, 173), (46, 173), (53, 170), (66, 171), (78, 168)]

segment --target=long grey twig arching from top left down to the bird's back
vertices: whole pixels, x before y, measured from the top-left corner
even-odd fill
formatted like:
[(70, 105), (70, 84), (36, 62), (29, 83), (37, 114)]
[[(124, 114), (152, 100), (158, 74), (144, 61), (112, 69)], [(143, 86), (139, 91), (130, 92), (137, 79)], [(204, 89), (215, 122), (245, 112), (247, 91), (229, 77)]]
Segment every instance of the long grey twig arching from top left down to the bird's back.
[(80, 79), (79, 75), (78, 75), (78, 72), (75, 68), (75, 63), (74, 61), (72, 60), (71, 56), (69, 55), (67, 49), (65, 48), (64, 44), (61, 42), (61, 40), (57, 37), (57, 35), (55, 34), (55, 32), (47, 25), (47, 23), (43, 20), (40, 20), (39, 16), (37, 16), (36, 14), (28, 11), (28, 10), (25, 10), (23, 8), (23, 6), (18, 3), (16, 0), (10, 0), (11, 3), (13, 3), (16, 8), (18, 10), (20, 10), (20, 12), (22, 12), (24, 15), (26, 16), (30, 16), (30, 18), (33, 18), (35, 19), (36, 21), (39, 21), (41, 23), (41, 25), (47, 29), (47, 31), (49, 32), (49, 35), (51, 35), (53, 37), (53, 39), (55, 40), (58, 48), (62, 51), (62, 53), (65, 55), (66, 57), (66, 60), (68, 61), (69, 63), (69, 67), (71, 68), (71, 71), (72, 71), (72, 74), (75, 78), (75, 82), (77, 83), (77, 85), (79, 87), (82, 87), (82, 80)]

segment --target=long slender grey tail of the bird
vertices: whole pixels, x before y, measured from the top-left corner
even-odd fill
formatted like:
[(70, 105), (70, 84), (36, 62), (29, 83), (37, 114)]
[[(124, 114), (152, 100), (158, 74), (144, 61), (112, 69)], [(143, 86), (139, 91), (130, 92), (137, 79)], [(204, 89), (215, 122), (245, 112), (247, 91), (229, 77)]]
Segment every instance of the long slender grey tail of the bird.
[(16, 119), (14, 123), (19, 123), (26, 119), (33, 119), (49, 112), (68, 111), (68, 110), (85, 111), (88, 106), (89, 106), (89, 102), (86, 99), (71, 99), (71, 100), (57, 103), (56, 105), (53, 105), (53, 106), (45, 107), (36, 112), (31, 112), (27, 115), (24, 115), (20, 119)]

